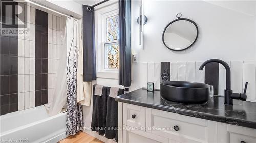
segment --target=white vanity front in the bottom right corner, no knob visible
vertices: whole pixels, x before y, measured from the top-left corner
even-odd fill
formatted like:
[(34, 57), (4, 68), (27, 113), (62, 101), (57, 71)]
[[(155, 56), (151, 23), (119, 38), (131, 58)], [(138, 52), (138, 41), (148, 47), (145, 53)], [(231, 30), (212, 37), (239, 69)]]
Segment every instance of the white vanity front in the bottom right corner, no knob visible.
[(256, 142), (256, 129), (234, 126), (224, 123), (217, 123), (217, 138), (218, 143), (233, 143), (233, 142)]

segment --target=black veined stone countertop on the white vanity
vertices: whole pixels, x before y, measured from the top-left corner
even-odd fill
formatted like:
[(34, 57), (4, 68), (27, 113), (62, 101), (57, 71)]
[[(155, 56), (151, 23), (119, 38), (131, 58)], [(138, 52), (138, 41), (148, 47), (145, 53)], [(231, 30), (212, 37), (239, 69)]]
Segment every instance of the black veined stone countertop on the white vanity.
[(207, 103), (188, 105), (167, 101), (160, 96), (160, 91), (148, 92), (138, 89), (115, 98), (143, 107), (179, 113), (181, 115), (202, 118), (232, 125), (256, 129), (256, 103), (233, 100), (233, 106), (225, 106), (224, 98), (214, 96)]

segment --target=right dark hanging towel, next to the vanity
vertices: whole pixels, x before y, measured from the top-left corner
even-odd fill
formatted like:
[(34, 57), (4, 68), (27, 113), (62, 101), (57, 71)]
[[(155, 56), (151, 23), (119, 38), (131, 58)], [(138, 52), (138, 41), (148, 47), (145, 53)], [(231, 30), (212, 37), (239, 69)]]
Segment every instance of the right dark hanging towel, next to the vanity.
[[(119, 89), (119, 88), (118, 88)], [(111, 88), (108, 87), (108, 95), (110, 94)], [(117, 95), (124, 94), (123, 89), (119, 89)], [(115, 101), (115, 98), (108, 97), (107, 101), (107, 114), (106, 114), (106, 134), (105, 137), (108, 139), (115, 138), (116, 142), (117, 140), (117, 127), (118, 127), (118, 110), (117, 110), (118, 104), (117, 101)]]

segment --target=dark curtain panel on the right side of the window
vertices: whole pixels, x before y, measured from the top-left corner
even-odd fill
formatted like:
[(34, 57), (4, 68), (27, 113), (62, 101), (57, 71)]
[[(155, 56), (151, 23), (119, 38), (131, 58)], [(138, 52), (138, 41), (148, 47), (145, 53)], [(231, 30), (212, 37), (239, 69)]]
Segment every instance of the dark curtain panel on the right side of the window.
[(131, 0), (119, 0), (119, 85), (131, 86)]

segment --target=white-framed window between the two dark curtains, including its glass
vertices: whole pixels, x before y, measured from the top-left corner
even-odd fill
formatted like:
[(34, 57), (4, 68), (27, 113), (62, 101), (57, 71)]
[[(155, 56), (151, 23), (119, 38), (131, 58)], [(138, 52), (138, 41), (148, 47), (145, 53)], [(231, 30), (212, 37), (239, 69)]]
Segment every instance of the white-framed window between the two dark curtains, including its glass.
[(95, 10), (97, 78), (118, 79), (118, 1), (113, 2)]

